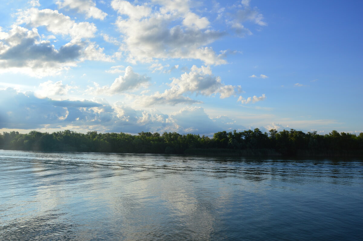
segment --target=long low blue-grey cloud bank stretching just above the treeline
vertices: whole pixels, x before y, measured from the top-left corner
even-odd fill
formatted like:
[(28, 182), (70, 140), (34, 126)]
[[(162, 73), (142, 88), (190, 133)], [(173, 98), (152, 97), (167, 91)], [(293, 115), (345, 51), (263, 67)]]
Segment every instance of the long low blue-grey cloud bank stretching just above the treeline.
[(68, 128), (81, 131), (138, 133), (179, 132), (210, 134), (241, 129), (227, 116), (210, 118), (201, 107), (186, 107), (170, 115), (157, 109), (133, 109), (122, 102), (112, 107), (105, 99), (53, 100), (38, 98), (34, 92), (0, 90), (0, 128)]

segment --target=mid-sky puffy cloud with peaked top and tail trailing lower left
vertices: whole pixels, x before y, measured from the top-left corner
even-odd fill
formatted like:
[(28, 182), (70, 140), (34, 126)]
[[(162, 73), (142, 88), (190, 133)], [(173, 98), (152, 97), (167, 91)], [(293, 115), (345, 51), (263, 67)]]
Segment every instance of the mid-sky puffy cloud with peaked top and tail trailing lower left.
[(137, 96), (137, 102), (144, 104), (144, 106), (191, 104), (200, 103), (200, 101), (192, 100), (184, 96), (184, 94), (201, 94), (204, 96), (219, 94), (220, 98), (224, 99), (241, 91), (241, 86), (223, 84), (219, 76), (212, 74), (209, 66), (198, 68), (193, 65), (189, 73), (185, 72), (180, 78), (173, 78), (168, 85), (170, 89), (165, 90), (163, 93), (156, 92), (154, 95)]

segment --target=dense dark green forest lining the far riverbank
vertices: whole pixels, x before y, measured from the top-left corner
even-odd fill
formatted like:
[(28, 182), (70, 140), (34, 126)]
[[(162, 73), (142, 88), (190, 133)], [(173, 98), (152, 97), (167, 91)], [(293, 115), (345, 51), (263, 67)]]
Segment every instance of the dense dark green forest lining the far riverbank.
[(294, 129), (269, 133), (258, 128), (243, 132), (217, 132), (213, 138), (196, 134), (162, 135), (140, 132), (86, 134), (64, 130), (52, 134), (31, 131), (28, 134), (0, 134), (0, 149), (34, 151), (86, 151), (114, 153), (168, 153), (201, 155), (287, 155), (287, 156), (357, 156), (363, 157), (363, 133), (358, 136), (297, 131)]

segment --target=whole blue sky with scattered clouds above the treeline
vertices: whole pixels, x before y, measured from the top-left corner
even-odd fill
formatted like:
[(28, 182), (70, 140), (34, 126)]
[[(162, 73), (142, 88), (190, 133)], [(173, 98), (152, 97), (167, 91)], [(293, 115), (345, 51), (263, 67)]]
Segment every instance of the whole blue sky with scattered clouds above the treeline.
[(0, 3), (1, 132), (363, 132), (363, 1)]

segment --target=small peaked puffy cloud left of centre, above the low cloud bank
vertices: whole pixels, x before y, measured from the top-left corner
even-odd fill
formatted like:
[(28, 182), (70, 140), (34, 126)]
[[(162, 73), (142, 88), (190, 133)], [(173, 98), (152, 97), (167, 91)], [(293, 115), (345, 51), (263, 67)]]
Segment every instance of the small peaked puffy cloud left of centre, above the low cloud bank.
[[(119, 66), (114, 67), (117, 69)], [(146, 75), (135, 73), (131, 66), (127, 66), (125, 69), (125, 75), (120, 75), (118, 78), (116, 78), (111, 86), (99, 87), (99, 85), (95, 83), (95, 87), (89, 87), (87, 92), (108, 95), (119, 94), (125, 91), (137, 90), (143, 86), (146, 87), (149, 80), (150, 78)]]

